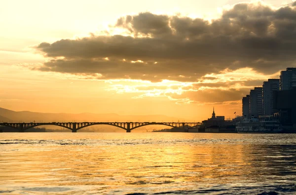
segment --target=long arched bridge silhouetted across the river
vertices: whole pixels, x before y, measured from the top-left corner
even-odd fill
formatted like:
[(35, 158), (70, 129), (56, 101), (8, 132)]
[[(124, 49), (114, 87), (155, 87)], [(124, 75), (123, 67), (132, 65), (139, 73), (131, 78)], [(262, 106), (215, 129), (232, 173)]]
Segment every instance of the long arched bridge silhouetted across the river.
[(148, 126), (148, 125), (165, 125), (172, 128), (180, 128), (182, 130), (188, 130), (190, 128), (195, 128), (202, 123), (158, 123), (158, 122), (68, 122), (68, 123), (60, 123), (60, 122), (52, 122), (52, 123), (0, 123), (0, 126), (5, 127), (11, 127), (14, 129), (19, 130), (19, 132), (24, 132), (25, 130), (28, 130), (30, 128), (34, 128), (37, 126), (43, 126), (43, 125), (54, 125), (63, 127), (69, 130), (72, 130), (72, 132), (77, 132), (77, 130), (80, 130), (85, 127), (93, 126), (93, 125), (110, 125), (114, 127), (121, 128), (123, 130), (126, 130), (126, 132), (131, 132), (131, 130)]

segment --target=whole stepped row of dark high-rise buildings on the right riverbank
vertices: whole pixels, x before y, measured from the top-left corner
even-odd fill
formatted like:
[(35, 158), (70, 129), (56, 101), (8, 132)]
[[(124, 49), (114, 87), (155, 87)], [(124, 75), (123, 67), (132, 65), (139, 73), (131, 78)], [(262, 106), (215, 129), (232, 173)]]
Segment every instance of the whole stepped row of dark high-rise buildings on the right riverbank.
[(276, 118), (296, 130), (296, 68), (288, 67), (281, 71), (280, 79), (268, 79), (262, 87), (250, 90), (242, 98), (242, 114), (247, 118)]

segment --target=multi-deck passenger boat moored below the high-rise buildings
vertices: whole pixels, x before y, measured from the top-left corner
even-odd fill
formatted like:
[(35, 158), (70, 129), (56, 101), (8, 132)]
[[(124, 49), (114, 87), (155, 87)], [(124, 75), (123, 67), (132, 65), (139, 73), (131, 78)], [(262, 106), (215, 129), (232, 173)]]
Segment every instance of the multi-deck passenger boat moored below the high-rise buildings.
[(279, 133), (283, 131), (279, 121), (259, 121), (257, 118), (243, 119), (236, 123), (238, 133)]

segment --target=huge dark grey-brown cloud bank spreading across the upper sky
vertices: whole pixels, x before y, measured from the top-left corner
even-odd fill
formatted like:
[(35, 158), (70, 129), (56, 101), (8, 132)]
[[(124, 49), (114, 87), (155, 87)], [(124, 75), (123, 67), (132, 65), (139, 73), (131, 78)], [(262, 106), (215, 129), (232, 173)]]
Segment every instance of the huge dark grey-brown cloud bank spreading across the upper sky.
[[(38, 69), (102, 74), (98, 79), (197, 81), (225, 68), (269, 74), (296, 64), (295, 2), (276, 10), (239, 3), (211, 22), (146, 12), (119, 18), (115, 27), (134, 37), (92, 35), (41, 43), (37, 49), (52, 59)], [(131, 62), (139, 60), (143, 63)]]

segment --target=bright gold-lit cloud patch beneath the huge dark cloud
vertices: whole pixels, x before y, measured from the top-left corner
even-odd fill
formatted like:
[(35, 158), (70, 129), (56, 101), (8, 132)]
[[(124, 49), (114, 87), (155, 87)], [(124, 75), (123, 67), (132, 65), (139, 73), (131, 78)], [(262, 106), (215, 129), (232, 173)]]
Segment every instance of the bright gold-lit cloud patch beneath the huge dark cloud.
[[(241, 102), (242, 97), (249, 94), (251, 88), (262, 86), (263, 82), (261, 79), (235, 77), (233, 72), (224, 72), (223, 82), (219, 80), (222, 74), (213, 75), (215, 79), (192, 83), (176, 81), (136, 83), (135, 85), (111, 83), (106, 90), (115, 91), (117, 94), (130, 94), (132, 98), (167, 97), (177, 104), (236, 105), (237, 102)], [(258, 75), (258, 78), (260, 77), (261, 75)]]

